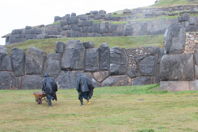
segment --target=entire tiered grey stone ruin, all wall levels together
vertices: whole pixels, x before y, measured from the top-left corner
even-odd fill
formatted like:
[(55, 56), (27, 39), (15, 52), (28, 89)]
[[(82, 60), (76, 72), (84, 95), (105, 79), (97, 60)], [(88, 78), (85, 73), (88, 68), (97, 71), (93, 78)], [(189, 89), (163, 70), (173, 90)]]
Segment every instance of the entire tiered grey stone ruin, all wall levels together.
[[(177, 16), (181, 10), (180, 17), (167, 21), (128, 21), (137, 17)], [(109, 48), (105, 43), (95, 48), (91, 42), (77, 40), (67, 44), (57, 42), (53, 54), (36, 48), (27, 51), (15, 48), (8, 54), (4, 47), (0, 47), (0, 89), (38, 89), (41, 88), (43, 74), (48, 73), (63, 89), (74, 88), (76, 77), (85, 74), (97, 87), (160, 82), (162, 90), (198, 90), (198, 17), (191, 15), (197, 10), (196, 5), (144, 8), (133, 10), (136, 15), (131, 10), (124, 10), (125, 17), (113, 17), (105, 11), (79, 16), (72, 13), (55, 17), (58, 24), (13, 30), (5, 36), (7, 44), (63, 36), (165, 34), (163, 48)], [(112, 23), (123, 20), (127, 23)]]

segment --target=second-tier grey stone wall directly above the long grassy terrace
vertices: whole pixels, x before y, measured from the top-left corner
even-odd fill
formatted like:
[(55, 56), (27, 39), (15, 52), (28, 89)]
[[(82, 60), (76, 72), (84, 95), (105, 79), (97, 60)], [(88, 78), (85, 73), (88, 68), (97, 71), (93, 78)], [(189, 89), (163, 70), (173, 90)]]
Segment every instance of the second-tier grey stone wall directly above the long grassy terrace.
[(43, 38), (156, 35), (163, 34), (165, 29), (173, 23), (177, 23), (176, 18), (124, 23), (118, 21), (118, 24), (114, 24), (109, 21), (98, 23), (92, 20), (81, 20), (78, 16), (74, 18), (70, 16), (58, 24), (15, 29), (3, 37), (6, 38), (6, 44), (13, 44)]

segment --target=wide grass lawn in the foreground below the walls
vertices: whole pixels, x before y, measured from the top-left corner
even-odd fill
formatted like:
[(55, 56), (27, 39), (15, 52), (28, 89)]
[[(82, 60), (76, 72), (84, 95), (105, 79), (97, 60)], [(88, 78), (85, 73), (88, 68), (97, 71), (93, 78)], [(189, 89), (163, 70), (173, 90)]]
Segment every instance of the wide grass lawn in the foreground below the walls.
[(0, 90), (0, 132), (197, 132), (198, 92), (157, 87), (96, 88), (84, 106), (74, 89), (59, 90), (53, 107), (34, 102), (39, 90)]

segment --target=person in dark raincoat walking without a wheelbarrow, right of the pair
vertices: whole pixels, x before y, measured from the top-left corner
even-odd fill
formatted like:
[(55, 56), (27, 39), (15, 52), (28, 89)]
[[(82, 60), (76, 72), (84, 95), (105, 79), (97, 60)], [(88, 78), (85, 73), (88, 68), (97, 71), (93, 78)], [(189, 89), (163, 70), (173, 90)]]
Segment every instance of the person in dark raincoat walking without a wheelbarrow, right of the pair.
[(87, 100), (87, 103), (89, 103), (89, 100), (93, 96), (94, 85), (91, 79), (80, 75), (77, 78), (76, 90), (78, 91), (78, 99), (80, 100), (80, 104), (83, 105), (83, 98)]

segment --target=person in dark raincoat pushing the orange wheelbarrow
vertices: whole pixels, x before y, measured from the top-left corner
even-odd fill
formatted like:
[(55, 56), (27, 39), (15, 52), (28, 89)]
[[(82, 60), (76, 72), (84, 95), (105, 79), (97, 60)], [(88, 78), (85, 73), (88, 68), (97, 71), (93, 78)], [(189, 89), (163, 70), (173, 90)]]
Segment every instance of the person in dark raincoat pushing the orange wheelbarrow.
[(43, 87), (42, 91), (46, 94), (48, 105), (52, 105), (52, 100), (57, 101), (56, 92), (58, 91), (57, 84), (54, 78), (49, 77), (48, 74), (44, 75), (44, 80), (42, 81)]

